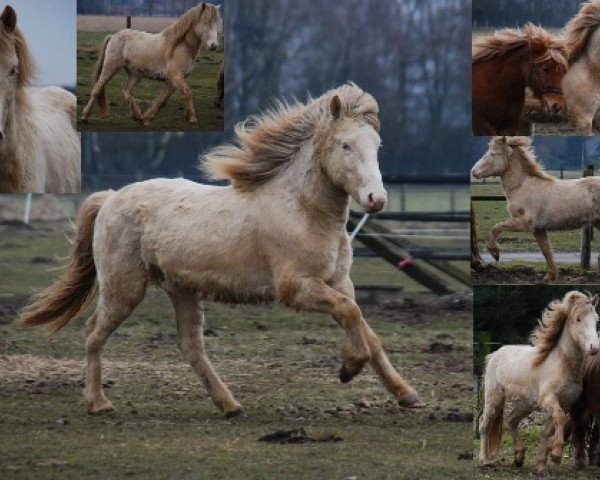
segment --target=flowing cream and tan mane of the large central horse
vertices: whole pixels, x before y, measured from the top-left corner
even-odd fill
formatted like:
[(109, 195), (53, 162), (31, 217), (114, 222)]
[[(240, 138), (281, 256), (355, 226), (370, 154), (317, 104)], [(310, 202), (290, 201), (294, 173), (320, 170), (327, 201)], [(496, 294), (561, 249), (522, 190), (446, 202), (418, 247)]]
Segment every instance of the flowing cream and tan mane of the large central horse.
[(306, 104), (277, 101), (275, 106), (238, 123), (233, 144), (216, 147), (200, 160), (200, 168), (213, 180), (230, 180), (239, 190), (250, 190), (277, 176), (302, 147), (317, 134), (330, 131), (329, 103), (337, 95), (342, 115), (358, 118), (379, 131), (376, 100), (354, 83), (309, 97)]

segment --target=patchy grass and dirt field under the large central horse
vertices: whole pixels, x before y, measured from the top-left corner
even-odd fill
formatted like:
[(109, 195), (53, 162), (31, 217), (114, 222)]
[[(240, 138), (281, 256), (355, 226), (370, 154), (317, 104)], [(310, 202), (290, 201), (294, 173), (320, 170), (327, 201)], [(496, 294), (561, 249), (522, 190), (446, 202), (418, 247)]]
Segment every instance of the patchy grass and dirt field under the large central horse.
[[(345, 336), (329, 317), (208, 303), (209, 357), (247, 414), (228, 421), (182, 361), (168, 299), (151, 288), (105, 351), (116, 412), (89, 416), (83, 319), (51, 339), (14, 325), (27, 297), (60, 274), (65, 228), (0, 224), (0, 478), (472, 478), (468, 299), (406, 285), (405, 301), (363, 308), (428, 403), (418, 412), (398, 407), (370, 368), (339, 383)], [(394, 274), (366, 259), (353, 270), (357, 283)], [(258, 441), (297, 428), (342, 440)]]

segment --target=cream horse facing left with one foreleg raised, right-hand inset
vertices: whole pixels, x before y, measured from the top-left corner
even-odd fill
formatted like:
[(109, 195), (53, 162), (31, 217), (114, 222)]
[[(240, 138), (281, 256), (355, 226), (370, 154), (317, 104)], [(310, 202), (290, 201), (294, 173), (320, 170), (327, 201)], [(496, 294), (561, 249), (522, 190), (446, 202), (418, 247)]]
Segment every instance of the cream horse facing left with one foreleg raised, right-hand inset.
[(488, 251), (499, 260), (497, 240), (504, 230), (531, 232), (548, 263), (544, 282), (558, 278), (548, 231), (587, 225), (600, 229), (600, 178), (557, 180), (537, 163), (529, 137), (495, 137), (471, 174), (475, 178), (501, 177), (506, 194), (511, 218), (494, 225)]

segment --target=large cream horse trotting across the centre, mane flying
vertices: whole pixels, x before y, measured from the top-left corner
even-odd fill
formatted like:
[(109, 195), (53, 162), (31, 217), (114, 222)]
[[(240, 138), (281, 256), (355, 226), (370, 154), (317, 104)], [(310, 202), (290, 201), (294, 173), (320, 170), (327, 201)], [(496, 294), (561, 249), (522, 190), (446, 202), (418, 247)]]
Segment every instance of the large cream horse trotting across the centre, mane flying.
[(230, 186), (156, 179), (91, 195), (66, 276), (25, 309), (21, 324), (58, 331), (91, 301), (97, 278), (98, 305), (85, 329), (85, 398), (91, 413), (110, 410), (101, 350), (154, 283), (173, 302), (184, 357), (232, 416), (242, 408), (206, 358), (199, 299), (276, 299), (329, 313), (346, 330), (342, 382), (370, 361), (401, 405), (423, 406), (364, 320), (349, 276), (349, 198), (365, 212), (380, 211), (387, 198), (378, 130), (376, 101), (348, 84), (239, 124), (234, 145), (203, 157), (204, 170)]

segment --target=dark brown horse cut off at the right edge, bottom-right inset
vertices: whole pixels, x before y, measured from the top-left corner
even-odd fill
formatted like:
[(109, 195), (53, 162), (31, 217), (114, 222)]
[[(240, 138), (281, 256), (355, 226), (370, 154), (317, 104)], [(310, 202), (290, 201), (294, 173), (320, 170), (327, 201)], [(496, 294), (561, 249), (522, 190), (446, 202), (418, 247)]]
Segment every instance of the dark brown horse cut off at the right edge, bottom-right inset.
[(575, 440), (575, 463), (585, 467), (585, 437), (590, 420), (595, 419), (590, 438), (589, 464), (600, 465), (598, 448), (598, 424), (600, 422), (600, 359), (586, 358), (583, 362), (583, 391), (571, 408), (573, 438)]

